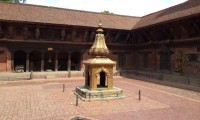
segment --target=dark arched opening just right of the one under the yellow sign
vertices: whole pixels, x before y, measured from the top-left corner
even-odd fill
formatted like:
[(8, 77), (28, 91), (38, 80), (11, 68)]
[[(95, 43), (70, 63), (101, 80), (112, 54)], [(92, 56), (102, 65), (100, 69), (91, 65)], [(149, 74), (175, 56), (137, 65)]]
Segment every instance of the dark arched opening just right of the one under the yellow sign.
[(62, 51), (58, 54), (58, 71), (67, 71), (68, 68), (67, 60), (68, 60), (67, 52)]

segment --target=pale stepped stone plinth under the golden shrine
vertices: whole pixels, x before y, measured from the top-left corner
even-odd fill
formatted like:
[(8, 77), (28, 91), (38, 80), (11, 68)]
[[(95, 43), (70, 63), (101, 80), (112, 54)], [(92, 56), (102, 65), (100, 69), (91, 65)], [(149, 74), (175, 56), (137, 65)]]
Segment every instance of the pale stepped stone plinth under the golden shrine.
[(79, 98), (83, 101), (104, 101), (104, 100), (113, 100), (113, 99), (122, 99), (124, 96), (122, 95), (123, 90), (117, 87), (113, 87), (113, 89), (107, 90), (93, 90), (91, 91), (87, 87), (77, 87), (75, 90), (75, 94), (79, 95)]

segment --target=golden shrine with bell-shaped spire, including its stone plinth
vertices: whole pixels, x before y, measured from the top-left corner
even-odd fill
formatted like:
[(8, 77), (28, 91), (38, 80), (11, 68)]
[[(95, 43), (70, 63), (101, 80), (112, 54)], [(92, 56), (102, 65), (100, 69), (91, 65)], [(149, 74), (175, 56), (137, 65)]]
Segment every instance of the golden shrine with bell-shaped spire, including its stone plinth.
[(85, 86), (77, 87), (75, 94), (78, 94), (84, 101), (123, 98), (122, 89), (113, 87), (113, 67), (116, 63), (107, 58), (109, 50), (101, 23), (89, 54), (92, 58), (83, 63), (85, 65)]

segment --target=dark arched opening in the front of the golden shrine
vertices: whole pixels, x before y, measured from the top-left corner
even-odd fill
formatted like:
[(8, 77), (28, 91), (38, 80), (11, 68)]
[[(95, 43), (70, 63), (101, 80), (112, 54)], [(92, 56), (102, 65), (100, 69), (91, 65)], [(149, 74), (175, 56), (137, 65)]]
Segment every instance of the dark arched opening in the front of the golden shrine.
[(105, 87), (107, 87), (107, 77), (106, 73), (104, 71), (101, 71), (97, 78), (97, 88), (105, 88)]

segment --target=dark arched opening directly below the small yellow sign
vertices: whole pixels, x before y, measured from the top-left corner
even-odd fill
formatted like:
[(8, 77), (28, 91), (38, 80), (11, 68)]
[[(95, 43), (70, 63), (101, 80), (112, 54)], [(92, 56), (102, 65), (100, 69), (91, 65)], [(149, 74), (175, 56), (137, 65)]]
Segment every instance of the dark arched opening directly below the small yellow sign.
[(55, 53), (53, 51), (48, 51), (44, 54), (44, 69), (46, 71), (55, 70)]

